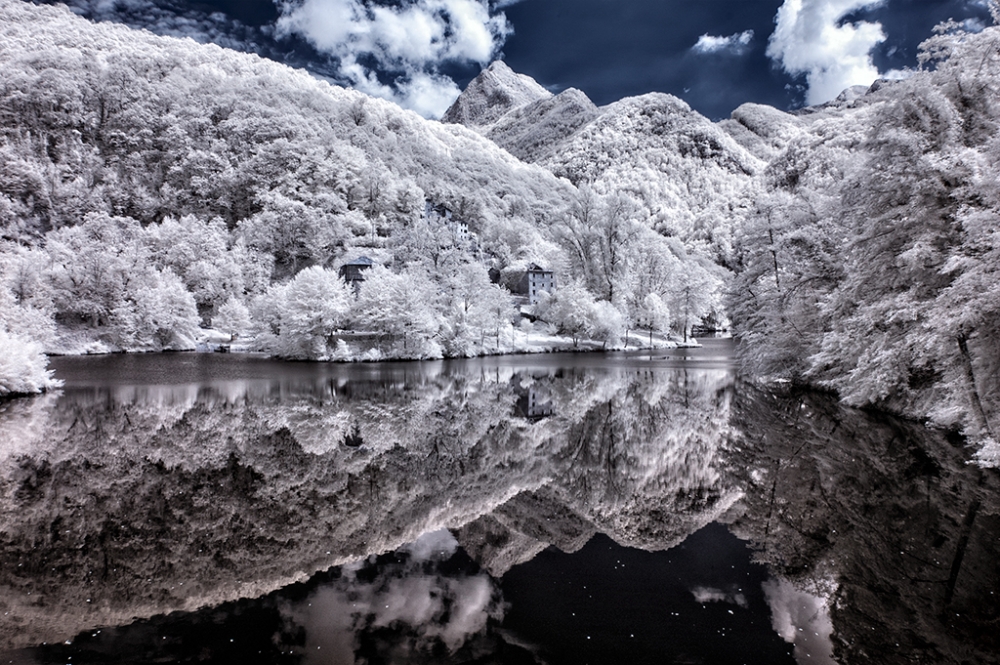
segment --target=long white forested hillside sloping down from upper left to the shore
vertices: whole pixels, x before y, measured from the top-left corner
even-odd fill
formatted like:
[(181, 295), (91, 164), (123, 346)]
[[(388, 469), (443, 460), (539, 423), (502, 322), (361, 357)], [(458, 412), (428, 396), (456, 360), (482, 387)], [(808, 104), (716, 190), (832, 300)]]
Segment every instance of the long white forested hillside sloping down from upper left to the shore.
[[(211, 324), (285, 357), (354, 357), (343, 328), (384, 355), (503, 352), (518, 317), (488, 271), (510, 286), (530, 263), (565, 287), (546, 330), (574, 338), (721, 316), (721, 273), (635, 196), (305, 72), (17, 0), (0, 2), (0, 63), (12, 345), (191, 348)], [(568, 232), (575, 210), (585, 226)], [(337, 268), (358, 256), (376, 268), (352, 298)], [(689, 266), (707, 288), (675, 286)]]

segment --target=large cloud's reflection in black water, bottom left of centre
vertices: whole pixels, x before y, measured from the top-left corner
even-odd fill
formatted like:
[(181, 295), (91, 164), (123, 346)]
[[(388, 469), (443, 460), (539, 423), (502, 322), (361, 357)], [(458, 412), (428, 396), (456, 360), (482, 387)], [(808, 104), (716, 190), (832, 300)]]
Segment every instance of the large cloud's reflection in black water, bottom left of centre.
[(482, 633), (501, 614), (490, 577), (428, 572), (457, 547), (447, 530), (436, 531), (400, 550), (409, 555), (401, 562), (346, 566), (291, 612), (306, 631), (305, 662), (353, 663), (364, 634), (392, 660), (406, 662), (414, 660), (408, 654), (441, 645), (454, 652)]

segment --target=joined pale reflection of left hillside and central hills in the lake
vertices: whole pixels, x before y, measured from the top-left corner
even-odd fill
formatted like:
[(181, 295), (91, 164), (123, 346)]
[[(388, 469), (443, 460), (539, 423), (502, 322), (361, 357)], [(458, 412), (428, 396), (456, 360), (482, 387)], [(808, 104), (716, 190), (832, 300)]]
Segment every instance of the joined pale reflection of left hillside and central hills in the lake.
[[(738, 497), (725, 371), (367, 371), (6, 405), (3, 642), (259, 596), (442, 527), (497, 571), (598, 530), (666, 548)], [(515, 383), (552, 415), (512, 417)]]

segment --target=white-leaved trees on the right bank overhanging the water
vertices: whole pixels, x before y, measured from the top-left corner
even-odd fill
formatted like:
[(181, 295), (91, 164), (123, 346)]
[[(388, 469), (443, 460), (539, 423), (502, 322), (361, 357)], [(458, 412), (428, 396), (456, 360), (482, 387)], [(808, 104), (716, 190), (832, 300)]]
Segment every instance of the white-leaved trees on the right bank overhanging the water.
[(775, 155), (736, 243), (730, 311), (754, 371), (995, 441), (998, 43), (942, 26), (906, 81), (728, 121)]

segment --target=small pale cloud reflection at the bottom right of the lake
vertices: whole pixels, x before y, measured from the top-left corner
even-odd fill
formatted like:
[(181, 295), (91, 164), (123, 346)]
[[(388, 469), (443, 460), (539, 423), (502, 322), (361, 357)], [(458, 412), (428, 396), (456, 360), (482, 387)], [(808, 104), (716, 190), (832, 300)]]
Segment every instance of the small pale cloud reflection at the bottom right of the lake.
[(771, 626), (794, 645), (795, 662), (834, 665), (829, 598), (797, 589), (784, 579), (768, 580), (763, 588), (771, 606)]

